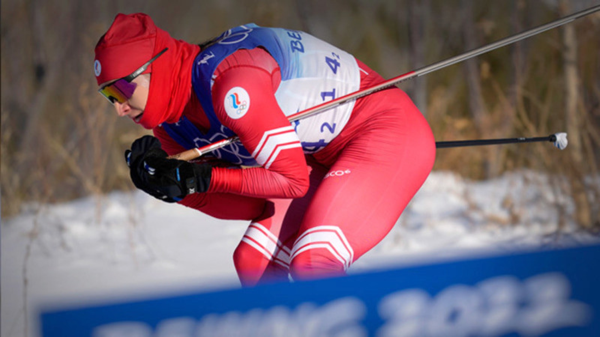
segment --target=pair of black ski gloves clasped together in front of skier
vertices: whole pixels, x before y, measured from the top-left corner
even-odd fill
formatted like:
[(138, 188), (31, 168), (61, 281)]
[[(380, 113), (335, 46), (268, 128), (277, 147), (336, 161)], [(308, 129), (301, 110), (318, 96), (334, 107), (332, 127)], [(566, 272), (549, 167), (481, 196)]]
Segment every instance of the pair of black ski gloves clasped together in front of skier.
[(212, 167), (187, 161), (167, 159), (160, 141), (143, 136), (125, 151), (134, 185), (159, 200), (176, 202), (185, 195), (206, 192), (211, 182)]

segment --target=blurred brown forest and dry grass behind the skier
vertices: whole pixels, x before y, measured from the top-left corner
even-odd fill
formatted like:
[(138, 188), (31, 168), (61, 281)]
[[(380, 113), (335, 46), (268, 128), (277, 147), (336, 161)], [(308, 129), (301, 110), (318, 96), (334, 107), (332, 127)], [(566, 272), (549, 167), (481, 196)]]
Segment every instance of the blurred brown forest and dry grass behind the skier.
[[(2, 216), (24, 201), (133, 189), (123, 152), (146, 133), (97, 94), (94, 46), (116, 13), (144, 12), (201, 43), (254, 22), (310, 32), (389, 79), (599, 5), (598, 0), (2, 0)], [(550, 143), (440, 149), (470, 179), (532, 169), (600, 228), (600, 14), (402, 83), (436, 140), (569, 134)], [(393, 135), (390, 135), (393, 137)]]

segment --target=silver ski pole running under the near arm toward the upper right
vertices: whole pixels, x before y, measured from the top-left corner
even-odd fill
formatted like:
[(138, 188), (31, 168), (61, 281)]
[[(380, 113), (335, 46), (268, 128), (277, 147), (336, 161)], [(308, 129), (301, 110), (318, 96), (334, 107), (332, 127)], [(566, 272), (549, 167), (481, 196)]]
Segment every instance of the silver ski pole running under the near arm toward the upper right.
[[(461, 55), (454, 56), (449, 59), (445, 59), (444, 61), (436, 62), (434, 64), (428, 65), (427, 67), (420, 68), (415, 71), (410, 71), (409, 73), (394, 77), (393, 79), (386, 80), (378, 85), (371, 86), (370, 88), (365, 88), (359, 91), (351, 92), (350, 94), (335, 98), (334, 100), (328, 101), (326, 103), (319, 104), (317, 106), (311, 107), (306, 110), (302, 110), (301, 112), (297, 112), (293, 115), (290, 115), (288, 119), (290, 122), (296, 121), (298, 119), (307, 118), (317, 113), (322, 113), (325, 110), (331, 109), (333, 107), (337, 107), (340, 104), (344, 104), (348, 101), (356, 100), (358, 98), (373, 94), (373, 92), (380, 91), (385, 88), (389, 88), (390, 86), (397, 85), (400, 82), (404, 82), (406, 80), (413, 79), (415, 77), (423, 76), (425, 74), (431, 73), (432, 71), (440, 70), (442, 68), (448, 67), (449, 65), (456, 64), (458, 62), (462, 62), (466, 59), (473, 58), (475, 56), (481, 55), (483, 53), (490, 52), (491, 50), (498, 49), (500, 47), (506, 46), (511, 43), (515, 43), (517, 41), (523, 40), (528, 37), (532, 37), (533, 35), (540, 34), (541, 32), (548, 31), (550, 29), (565, 25), (565, 23), (572, 22), (575, 19), (578, 19), (583, 16), (587, 16), (589, 14), (595, 13), (600, 10), (600, 5), (596, 5), (594, 7), (590, 7), (587, 10), (583, 10), (569, 16), (563, 17), (562, 19), (557, 19), (552, 22), (546, 23), (545, 25), (538, 26), (536, 28), (529, 29), (527, 31), (512, 35), (510, 37), (503, 38), (502, 40), (496, 41), (494, 43), (487, 44), (485, 46), (470, 50), (469, 52), (465, 52)], [(207, 154), (208, 152), (212, 152), (216, 149), (223, 148), (224, 146), (230, 145), (233, 142), (237, 142), (239, 140), (238, 137), (230, 137), (227, 139), (220, 140), (218, 142), (202, 146), (202, 148), (191, 149), (188, 151), (181, 152), (181, 154), (173, 155), (173, 159), (179, 160), (193, 160), (194, 158), (200, 157), (202, 155)]]

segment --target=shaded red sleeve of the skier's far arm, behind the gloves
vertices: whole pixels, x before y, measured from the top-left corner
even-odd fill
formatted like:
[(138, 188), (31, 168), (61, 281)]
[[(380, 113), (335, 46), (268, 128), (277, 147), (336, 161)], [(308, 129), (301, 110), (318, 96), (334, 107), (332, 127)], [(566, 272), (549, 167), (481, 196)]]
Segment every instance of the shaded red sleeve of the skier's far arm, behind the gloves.
[[(154, 128), (154, 136), (169, 155), (185, 151), (161, 127)], [(194, 193), (187, 195), (179, 204), (199, 210), (202, 213), (227, 220), (252, 220), (265, 209), (264, 198), (244, 197), (230, 193)]]

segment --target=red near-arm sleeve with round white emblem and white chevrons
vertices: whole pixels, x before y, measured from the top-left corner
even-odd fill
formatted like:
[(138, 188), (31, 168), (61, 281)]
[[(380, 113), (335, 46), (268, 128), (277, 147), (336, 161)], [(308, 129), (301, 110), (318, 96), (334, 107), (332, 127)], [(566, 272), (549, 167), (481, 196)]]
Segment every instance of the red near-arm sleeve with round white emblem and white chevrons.
[(298, 135), (275, 100), (277, 63), (262, 49), (238, 50), (226, 61), (212, 87), (215, 113), (261, 167), (215, 168), (209, 192), (302, 197), (308, 190), (308, 169)]

